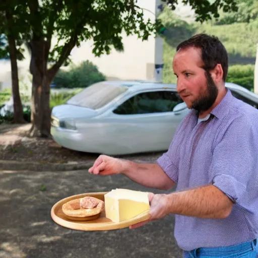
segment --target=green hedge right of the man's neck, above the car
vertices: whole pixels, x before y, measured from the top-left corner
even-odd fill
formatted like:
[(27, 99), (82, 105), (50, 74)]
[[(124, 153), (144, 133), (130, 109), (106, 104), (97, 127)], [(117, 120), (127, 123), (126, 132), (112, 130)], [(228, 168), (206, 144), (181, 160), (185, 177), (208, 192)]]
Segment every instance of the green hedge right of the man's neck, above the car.
[(238, 84), (250, 91), (253, 91), (254, 65), (237, 64), (228, 69), (227, 82)]

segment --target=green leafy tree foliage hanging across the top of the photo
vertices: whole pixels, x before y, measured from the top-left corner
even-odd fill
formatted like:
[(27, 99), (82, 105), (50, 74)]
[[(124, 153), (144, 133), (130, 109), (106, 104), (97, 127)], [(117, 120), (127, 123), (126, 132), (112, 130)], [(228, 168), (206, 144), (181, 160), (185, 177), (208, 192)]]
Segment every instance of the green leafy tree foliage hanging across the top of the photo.
[[(195, 9), (197, 21), (203, 22), (219, 17), (219, 10), (225, 12), (237, 10), (238, 0), (183, 0)], [(248, 0), (256, 1), (256, 0)], [(170, 9), (178, 4), (177, 0), (163, 0)], [(12, 24), (8, 26), (6, 14), (11, 15)], [(74, 46), (93, 40), (93, 52), (96, 56), (109, 54), (111, 49), (123, 51), (122, 35), (136, 35), (148, 40), (164, 26), (158, 27), (146, 19), (143, 10), (137, 6), (137, 0), (10, 0), (0, 4), (0, 29), (7, 35), (15, 35), (20, 58), (22, 44), (32, 38), (56, 43), (48, 54), (48, 62), (59, 64), (69, 60)], [(8, 56), (8, 46), (4, 38), (0, 48), (1, 56)], [(53, 42), (53, 41), (52, 41)], [(48, 51), (48, 50), (47, 50)]]

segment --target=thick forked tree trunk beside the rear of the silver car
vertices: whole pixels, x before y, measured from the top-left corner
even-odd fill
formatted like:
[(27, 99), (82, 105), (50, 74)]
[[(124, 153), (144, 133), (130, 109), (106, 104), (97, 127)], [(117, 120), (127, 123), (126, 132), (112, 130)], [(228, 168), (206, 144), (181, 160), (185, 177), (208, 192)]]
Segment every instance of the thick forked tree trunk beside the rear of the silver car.
[(54, 79), (62, 63), (68, 58), (76, 45), (77, 37), (71, 37), (60, 54), (56, 63), (47, 70), (47, 59), (51, 40), (45, 41), (34, 36), (29, 47), (31, 50), (30, 72), (32, 78), (32, 103), (30, 136), (50, 137), (50, 83)]

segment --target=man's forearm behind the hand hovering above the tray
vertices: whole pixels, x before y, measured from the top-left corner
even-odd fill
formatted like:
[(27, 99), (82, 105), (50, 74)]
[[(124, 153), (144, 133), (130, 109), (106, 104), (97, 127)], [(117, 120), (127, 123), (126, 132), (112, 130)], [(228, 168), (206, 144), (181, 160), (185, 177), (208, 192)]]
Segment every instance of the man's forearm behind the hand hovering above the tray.
[(124, 160), (123, 164), (122, 174), (143, 186), (166, 190), (175, 184), (158, 164), (129, 160)]

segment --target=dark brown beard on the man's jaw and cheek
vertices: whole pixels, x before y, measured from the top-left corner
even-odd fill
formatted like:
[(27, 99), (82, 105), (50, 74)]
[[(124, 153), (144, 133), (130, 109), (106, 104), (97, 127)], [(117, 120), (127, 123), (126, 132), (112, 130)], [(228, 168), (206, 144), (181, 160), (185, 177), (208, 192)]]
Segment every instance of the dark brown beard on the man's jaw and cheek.
[(192, 103), (192, 108), (196, 109), (199, 113), (211, 108), (218, 96), (218, 88), (208, 71), (205, 71), (205, 77), (207, 89), (200, 95), (199, 99)]

